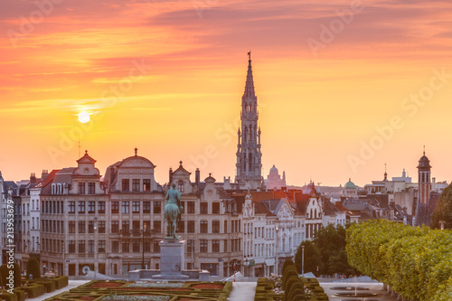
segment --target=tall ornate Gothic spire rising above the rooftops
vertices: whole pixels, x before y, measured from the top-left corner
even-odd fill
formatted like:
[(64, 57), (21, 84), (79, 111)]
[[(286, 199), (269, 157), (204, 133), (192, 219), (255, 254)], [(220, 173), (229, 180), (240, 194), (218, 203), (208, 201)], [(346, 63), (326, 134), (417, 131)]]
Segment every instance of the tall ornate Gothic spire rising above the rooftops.
[(262, 154), (260, 153), (260, 127), (258, 126), (258, 98), (254, 93), (251, 52), (248, 52), (248, 73), (245, 92), (241, 97), (241, 127), (238, 132), (235, 182), (241, 189), (262, 187)]

